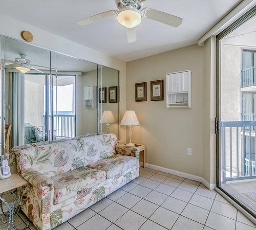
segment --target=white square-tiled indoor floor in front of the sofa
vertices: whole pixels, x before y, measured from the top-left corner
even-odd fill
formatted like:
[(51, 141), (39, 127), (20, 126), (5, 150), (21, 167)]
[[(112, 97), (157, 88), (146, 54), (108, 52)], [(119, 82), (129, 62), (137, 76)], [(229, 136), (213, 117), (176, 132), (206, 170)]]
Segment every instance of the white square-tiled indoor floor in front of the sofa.
[[(22, 213), (20, 217), (27, 220)], [(23, 226), (19, 222), (18, 228)], [(254, 230), (255, 227), (202, 183), (141, 168), (138, 178), (55, 229)], [(30, 229), (35, 227), (31, 224)]]

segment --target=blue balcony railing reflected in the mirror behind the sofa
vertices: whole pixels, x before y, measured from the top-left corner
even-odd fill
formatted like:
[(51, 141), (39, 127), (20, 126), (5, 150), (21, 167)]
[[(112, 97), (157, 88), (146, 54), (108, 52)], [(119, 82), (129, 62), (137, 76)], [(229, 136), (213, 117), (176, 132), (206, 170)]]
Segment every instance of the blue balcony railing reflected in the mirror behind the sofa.
[[(57, 114), (53, 116), (54, 135), (57, 138), (73, 138), (75, 136), (75, 115)], [(45, 116), (44, 116), (44, 126)]]

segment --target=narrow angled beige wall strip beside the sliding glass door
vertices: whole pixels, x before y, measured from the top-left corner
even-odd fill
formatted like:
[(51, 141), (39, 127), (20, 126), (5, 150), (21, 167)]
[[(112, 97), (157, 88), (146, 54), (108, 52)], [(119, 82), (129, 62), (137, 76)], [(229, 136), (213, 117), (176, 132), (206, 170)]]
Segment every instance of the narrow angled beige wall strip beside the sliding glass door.
[(203, 175), (216, 183), (216, 37), (205, 41), (203, 62)]

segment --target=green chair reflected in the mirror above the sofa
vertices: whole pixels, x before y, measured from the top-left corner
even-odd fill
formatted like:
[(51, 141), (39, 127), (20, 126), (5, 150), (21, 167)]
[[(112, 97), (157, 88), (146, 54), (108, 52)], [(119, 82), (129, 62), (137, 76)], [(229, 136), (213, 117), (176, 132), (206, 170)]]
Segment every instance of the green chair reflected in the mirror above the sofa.
[(44, 142), (46, 138), (45, 128), (42, 126), (32, 126), (25, 124), (25, 144)]

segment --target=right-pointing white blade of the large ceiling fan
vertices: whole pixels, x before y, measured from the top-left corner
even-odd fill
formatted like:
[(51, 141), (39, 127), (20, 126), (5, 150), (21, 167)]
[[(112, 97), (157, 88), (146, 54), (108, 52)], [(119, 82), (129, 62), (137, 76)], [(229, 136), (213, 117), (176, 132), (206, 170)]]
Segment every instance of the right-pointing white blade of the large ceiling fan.
[(167, 14), (162, 11), (158, 11), (150, 8), (144, 8), (142, 11), (146, 12), (145, 16), (147, 18), (162, 22), (163, 24), (166, 24), (172, 27), (178, 27), (182, 23), (182, 18), (176, 17), (172, 14)]

